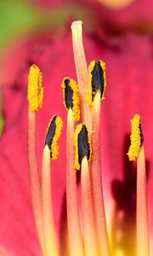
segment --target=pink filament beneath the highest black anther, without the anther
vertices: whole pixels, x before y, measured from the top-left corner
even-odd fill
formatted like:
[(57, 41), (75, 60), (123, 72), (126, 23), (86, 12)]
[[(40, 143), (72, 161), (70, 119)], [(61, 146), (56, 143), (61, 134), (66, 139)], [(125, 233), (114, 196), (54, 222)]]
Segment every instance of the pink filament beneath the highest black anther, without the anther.
[[(100, 154), (100, 100), (101, 92), (98, 90), (93, 102), (93, 134), (92, 134), (92, 195), (94, 201), (94, 218), (96, 235), (99, 245), (99, 255), (110, 255), (108, 234), (105, 222), (105, 208), (101, 177), (101, 154)], [(103, 241), (103, 242), (101, 242)]]

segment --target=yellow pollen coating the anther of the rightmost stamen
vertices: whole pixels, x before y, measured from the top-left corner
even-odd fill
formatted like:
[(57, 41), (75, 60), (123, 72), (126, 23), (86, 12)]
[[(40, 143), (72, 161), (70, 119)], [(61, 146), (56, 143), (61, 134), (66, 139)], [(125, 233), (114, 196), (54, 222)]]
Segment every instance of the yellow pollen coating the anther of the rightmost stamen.
[(139, 128), (140, 116), (138, 113), (134, 115), (133, 119), (131, 120), (131, 124), (132, 124), (132, 133), (130, 136), (131, 145), (127, 153), (130, 161), (136, 160), (136, 158), (138, 157), (139, 148), (141, 145), (140, 128)]

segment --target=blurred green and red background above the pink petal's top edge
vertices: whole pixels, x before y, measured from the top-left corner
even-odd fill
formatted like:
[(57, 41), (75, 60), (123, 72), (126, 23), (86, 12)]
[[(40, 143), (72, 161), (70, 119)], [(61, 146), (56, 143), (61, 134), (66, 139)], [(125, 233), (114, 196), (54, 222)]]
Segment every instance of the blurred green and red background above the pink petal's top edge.
[[(10, 73), (7, 69), (8, 62), (10, 63), (11, 53), (17, 45), (37, 32), (59, 32), (75, 19), (82, 20), (88, 31), (94, 31), (101, 38), (108, 34), (117, 35), (126, 32), (152, 33), (153, 2), (151, 0), (1, 0), (1, 86), (7, 82)], [(19, 63), (14, 60), (12, 64), (16, 67)], [(13, 74), (14, 70), (10, 73), (10, 79), (14, 79)], [(1, 132), (4, 125), (2, 102), (1, 90)]]

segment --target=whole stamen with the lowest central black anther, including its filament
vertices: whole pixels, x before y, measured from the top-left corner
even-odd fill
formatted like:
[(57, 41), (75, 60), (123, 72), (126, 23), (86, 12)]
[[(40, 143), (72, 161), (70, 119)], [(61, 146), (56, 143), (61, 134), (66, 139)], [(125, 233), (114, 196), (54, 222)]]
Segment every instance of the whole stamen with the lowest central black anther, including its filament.
[(95, 235), (90, 172), (88, 168), (88, 160), (91, 157), (91, 149), (90, 143), (88, 142), (88, 129), (86, 125), (77, 125), (77, 129), (75, 131), (75, 144), (78, 155), (77, 166), (81, 166), (82, 170), (82, 229), (85, 255), (98, 256), (99, 253)]

